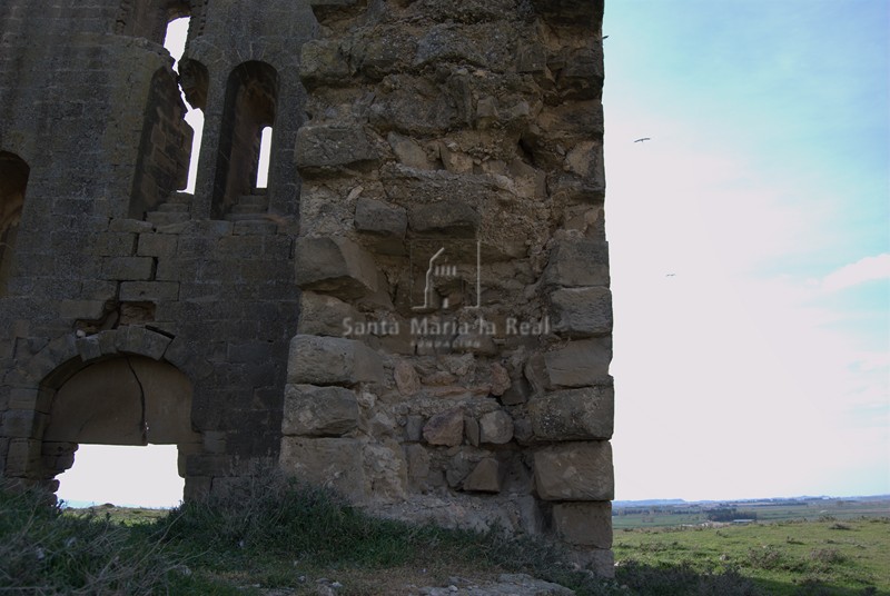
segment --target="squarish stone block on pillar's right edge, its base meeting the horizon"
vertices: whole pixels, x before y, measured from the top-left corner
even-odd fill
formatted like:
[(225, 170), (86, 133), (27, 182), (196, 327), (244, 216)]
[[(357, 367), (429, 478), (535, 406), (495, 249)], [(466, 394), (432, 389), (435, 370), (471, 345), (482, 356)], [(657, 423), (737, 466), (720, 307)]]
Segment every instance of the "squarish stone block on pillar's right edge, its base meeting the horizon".
[(534, 455), (535, 486), (544, 500), (612, 500), (615, 480), (606, 441), (544, 447)]

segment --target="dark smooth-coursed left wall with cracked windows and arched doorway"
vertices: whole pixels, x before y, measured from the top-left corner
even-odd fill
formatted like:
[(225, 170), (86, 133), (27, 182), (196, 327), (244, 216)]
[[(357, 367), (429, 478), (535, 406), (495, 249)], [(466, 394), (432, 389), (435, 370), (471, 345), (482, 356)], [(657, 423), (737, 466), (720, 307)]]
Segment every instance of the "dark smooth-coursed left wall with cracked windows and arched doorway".
[[(296, 222), (288, 217), (298, 188), (293, 158), (285, 150), (276, 159), (268, 193), (249, 195), (237, 212), (209, 219), (209, 191), (177, 191), (185, 186), (191, 131), (172, 60), (159, 44), (164, 24), (188, 4), (51, 4), (0, 7), (0, 151), (29, 170), (14, 250), (2, 255), (0, 474), (55, 487), (77, 447), (57, 440), (70, 433), (44, 435), (65, 417), (55, 409), (57, 396), (86, 369), (150, 358), (190, 380), (194, 395), (176, 386), (166, 391), (188, 400), (187, 426), (197, 435), (129, 428), (174, 427), (181, 421), (169, 414), (172, 407), (162, 415), (144, 411), (137, 423), (125, 417), (127, 428), (116, 428), (106, 424), (113, 413), (102, 398), (80, 407), (92, 408), (91, 424), (107, 430), (83, 440), (130, 444), (142, 436), (177, 444), (187, 496), (204, 497), (278, 458), (298, 316)], [(287, 93), (280, 102), (287, 116), (276, 128), (293, 143), (303, 96), (294, 92), (298, 56), (286, 49), (298, 48), (314, 22), (296, 19), (300, 12), (293, 8), (276, 12), (271, 2), (265, 11), (251, 2), (224, 4), (201, 13), (190, 34), (192, 60), (202, 59), (208, 73), (208, 136), (219, 135), (215, 110), (231, 70), (266, 60)], [(227, 19), (256, 30), (236, 34)], [(280, 33), (275, 51), (254, 40), (264, 28)], [(214, 46), (227, 50), (201, 53)], [(215, 167), (208, 160), (199, 171), (204, 187), (211, 187)], [(144, 385), (152, 377), (139, 367), (134, 376)]]

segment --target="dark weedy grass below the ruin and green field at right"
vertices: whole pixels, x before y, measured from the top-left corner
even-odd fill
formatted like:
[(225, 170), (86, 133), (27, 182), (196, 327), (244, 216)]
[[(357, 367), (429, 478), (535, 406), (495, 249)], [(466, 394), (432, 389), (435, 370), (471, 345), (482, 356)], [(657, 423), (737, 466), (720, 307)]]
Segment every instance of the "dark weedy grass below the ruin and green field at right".
[(753, 542), (744, 535), (753, 526), (713, 536), (619, 532), (616, 578), (600, 580), (540, 540), (374, 519), (279, 477), (160, 517), (111, 513), (72, 514), (44, 495), (0, 487), (0, 594), (308, 595), (326, 577), (342, 584), (342, 596), (397, 595), (500, 573), (591, 596), (852, 596), (883, 594), (890, 584), (878, 565), (890, 548), (887, 520), (759, 526)]

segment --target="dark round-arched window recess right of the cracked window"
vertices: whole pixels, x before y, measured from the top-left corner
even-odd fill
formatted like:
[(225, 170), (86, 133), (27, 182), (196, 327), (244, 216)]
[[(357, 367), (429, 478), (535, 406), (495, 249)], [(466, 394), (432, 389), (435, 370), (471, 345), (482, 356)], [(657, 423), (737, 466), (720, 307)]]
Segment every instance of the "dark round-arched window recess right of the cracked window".
[(226, 83), (211, 217), (233, 212), (241, 197), (256, 193), (263, 129), (275, 126), (278, 71), (250, 60), (233, 69)]

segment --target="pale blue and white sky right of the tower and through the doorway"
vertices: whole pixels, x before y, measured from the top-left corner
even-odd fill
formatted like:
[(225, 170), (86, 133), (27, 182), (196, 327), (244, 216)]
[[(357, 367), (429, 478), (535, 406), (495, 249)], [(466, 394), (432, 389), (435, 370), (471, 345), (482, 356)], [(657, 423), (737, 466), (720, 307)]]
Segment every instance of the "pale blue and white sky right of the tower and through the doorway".
[(616, 498), (890, 493), (888, 7), (606, 0)]

